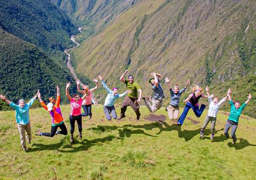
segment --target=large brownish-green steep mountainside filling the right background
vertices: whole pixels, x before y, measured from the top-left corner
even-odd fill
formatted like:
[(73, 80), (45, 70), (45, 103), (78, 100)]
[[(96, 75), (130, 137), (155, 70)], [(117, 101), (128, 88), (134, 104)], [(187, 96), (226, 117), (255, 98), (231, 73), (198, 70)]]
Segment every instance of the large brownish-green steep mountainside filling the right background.
[[(75, 49), (73, 62), (78, 73), (91, 78), (101, 73), (109, 86), (124, 87), (119, 77), (128, 69), (144, 95), (151, 95), (147, 79), (152, 71), (180, 86), (187, 79), (191, 84), (208, 84), (218, 96), (231, 87), (235, 98), (244, 100), (246, 89), (254, 96), (247, 113), (256, 116), (255, 5), (255, 1), (141, 1)], [(165, 92), (169, 98), (166, 87)]]

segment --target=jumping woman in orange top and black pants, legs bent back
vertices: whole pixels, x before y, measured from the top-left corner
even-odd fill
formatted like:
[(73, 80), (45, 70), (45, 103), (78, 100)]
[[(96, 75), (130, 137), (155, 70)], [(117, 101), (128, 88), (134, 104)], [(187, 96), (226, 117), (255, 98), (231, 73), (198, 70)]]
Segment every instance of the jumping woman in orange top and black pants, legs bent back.
[[(68, 130), (66, 129), (66, 126), (63, 122), (63, 117), (61, 114), (60, 110), (60, 88), (59, 86), (57, 88), (57, 101), (55, 101), (54, 98), (50, 97), (49, 98), (49, 103), (46, 105), (44, 104), (42, 98), (41, 98), (41, 93), (38, 93), (38, 99), (41, 103), (41, 105), (46, 109), (50, 115), (52, 116), (52, 128), (51, 128), (51, 133), (41, 133), (40, 129), (38, 129), (37, 133), (35, 134), (36, 136), (48, 136), (48, 137), (53, 137), (55, 134), (63, 134), (67, 135)], [(60, 127), (61, 131), (57, 131), (57, 129)]]

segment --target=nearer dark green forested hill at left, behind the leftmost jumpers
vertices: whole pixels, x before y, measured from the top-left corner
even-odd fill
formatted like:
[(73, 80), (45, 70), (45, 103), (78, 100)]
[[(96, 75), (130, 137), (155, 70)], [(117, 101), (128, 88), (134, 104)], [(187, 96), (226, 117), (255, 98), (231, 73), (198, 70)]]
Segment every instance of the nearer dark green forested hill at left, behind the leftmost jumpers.
[[(56, 85), (61, 88), (62, 100), (67, 102), (65, 86), (71, 81), (76, 91), (75, 82), (66, 69), (61, 68), (33, 44), (25, 42), (0, 29), (0, 93), (11, 101), (20, 98), (29, 100), (37, 89), (44, 98), (56, 96)], [(0, 110), (5, 110), (0, 104)]]

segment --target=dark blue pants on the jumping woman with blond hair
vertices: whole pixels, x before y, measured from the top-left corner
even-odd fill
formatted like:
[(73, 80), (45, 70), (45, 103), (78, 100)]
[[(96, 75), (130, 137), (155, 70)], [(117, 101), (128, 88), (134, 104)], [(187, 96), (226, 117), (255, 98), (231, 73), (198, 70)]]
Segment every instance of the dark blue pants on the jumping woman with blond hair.
[(199, 106), (193, 106), (191, 105), (189, 102), (187, 102), (181, 116), (179, 117), (178, 123), (180, 123), (181, 125), (183, 124), (188, 111), (190, 110), (190, 108), (192, 108), (192, 110), (194, 111), (195, 115), (197, 118), (199, 118), (201, 116), (201, 114), (203, 113), (204, 109), (205, 109), (205, 105), (201, 105), (200, 109)]

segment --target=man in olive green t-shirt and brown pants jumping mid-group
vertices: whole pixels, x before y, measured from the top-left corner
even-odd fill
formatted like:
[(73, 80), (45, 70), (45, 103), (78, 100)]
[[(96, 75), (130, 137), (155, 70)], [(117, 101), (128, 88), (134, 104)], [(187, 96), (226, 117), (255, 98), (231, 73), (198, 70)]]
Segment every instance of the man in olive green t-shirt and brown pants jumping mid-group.
[[(124, 102), (121, 107), (121, 114), (120, 114), (120, 117), (118, 117), (117, 119), (124, 118), (127, 106), (131, 106), (137, 115), (137, 120), (139, 120), (141, 116), (139, 103), (141, 102), (142, 91), (141, 91), (141, 87), (136, 82), (134, 82), (133, 75), (129, 75), (128, 80), (124, 79), (124, 75), (127, 72), (128, 70), (124, 71), (124, 73), (120, 77), (120, 80), (123, 83), (125, 83), (127, 90), (131, 90), (132, 92), (128, 93), (128, 96), (124, 98)], [(139, 97), (138, 97), (138, 92), (140, 93)]]

